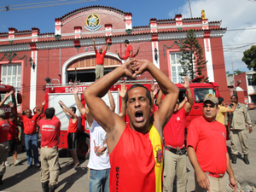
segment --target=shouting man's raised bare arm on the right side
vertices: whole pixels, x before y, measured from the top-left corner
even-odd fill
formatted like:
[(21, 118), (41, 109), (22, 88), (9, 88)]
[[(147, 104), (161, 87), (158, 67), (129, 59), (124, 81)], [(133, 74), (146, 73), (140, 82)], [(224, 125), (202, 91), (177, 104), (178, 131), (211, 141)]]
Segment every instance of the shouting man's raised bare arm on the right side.
[(158, 82), (160, 90), (165, 94), (165, 98), (161, 103), (161, 107), (154, 113), (152, 119), (154, 127), (159, 131), (160, 137), (162, 137), (162, 131), (168, 120), (171, 118), (174, 111), (175, 104), (177, 103), (177, 96), (179, 90), (177, 86), (172, 83), (170, 79), (166, 77), (159, 68), (147, 60), (138, 60), (137, 65), (132, 68), (137, 74), (141, 74), (144, 71), (148, 71), (154, 79)]

